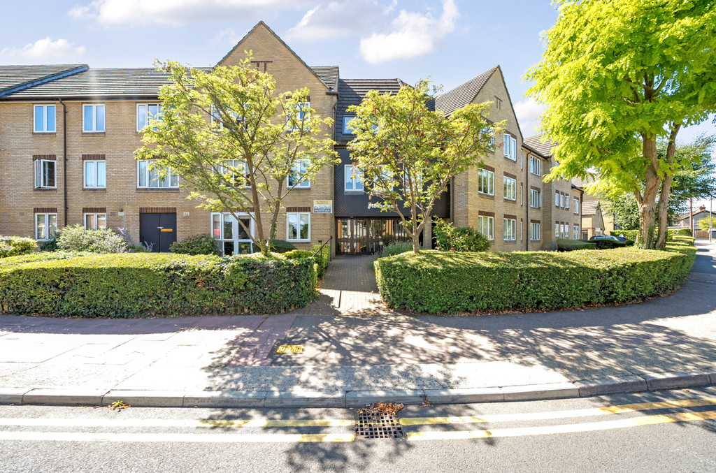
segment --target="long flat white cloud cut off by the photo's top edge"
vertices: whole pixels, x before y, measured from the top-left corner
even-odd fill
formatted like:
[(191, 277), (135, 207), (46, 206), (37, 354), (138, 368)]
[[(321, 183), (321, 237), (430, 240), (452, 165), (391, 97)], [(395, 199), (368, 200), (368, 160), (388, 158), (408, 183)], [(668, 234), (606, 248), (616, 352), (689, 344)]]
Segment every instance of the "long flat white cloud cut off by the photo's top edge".
[(69, 10), (75, 19), (100, 24), (170, 24), (243, 20), (258, 11), (300, 8), (304, 0), (95, 0)]

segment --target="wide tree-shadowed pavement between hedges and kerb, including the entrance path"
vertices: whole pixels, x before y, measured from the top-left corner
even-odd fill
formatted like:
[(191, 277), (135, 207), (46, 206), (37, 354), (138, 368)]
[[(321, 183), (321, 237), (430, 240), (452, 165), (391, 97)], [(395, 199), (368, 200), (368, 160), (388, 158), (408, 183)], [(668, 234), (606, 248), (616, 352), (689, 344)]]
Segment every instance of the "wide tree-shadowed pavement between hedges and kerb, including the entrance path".
[(698, 247), (680, 291), (584, 311), (402, 315), (380, 303), (367, 258), (338, 258), (314, 313), (0, 316), (0, 402), (361, 406), (716, 384), (716, 245)]

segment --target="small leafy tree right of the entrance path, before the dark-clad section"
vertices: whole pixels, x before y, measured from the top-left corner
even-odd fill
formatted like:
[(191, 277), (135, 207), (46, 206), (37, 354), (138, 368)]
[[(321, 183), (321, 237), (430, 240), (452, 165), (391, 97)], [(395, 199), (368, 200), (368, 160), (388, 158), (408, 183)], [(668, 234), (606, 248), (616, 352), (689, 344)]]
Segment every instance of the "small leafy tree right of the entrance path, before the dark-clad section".
[[(450, 117), (428, 109), (428, 82), (405, 86), (397, 94), (368, 92), (352, 105), (355, 139), (349, 150), (362, 172), (364, 189), (374, 208), (395, 212), (420, 252), (419, 236), (435, 202), (450, 179), (478, 165), (500, 124), (490, 124), (489, 103), (469, 104)], [(409, 209), (410, 215), (403, 215)]]

